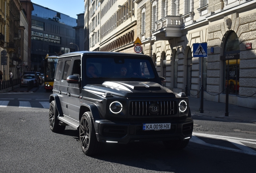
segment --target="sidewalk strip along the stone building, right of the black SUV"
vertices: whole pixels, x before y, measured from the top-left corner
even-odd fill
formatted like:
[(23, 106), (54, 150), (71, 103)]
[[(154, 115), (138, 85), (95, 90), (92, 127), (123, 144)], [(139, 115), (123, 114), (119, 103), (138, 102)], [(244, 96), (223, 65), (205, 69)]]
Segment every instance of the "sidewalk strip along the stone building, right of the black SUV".
[(234, 121), (256, 123), (256, 109), (250, 109), (246, 107), (239, 107), (237, 105), (228, 105), (229, 116), (225, 116), (226, 104), (218, 103), (213, 101), (206, 101), (204, 99), (203, 112), (200, 113), (200, 99), (199, 98), (189, 98), (189, 107), (193, 116), (205, 116), (229, 119)]

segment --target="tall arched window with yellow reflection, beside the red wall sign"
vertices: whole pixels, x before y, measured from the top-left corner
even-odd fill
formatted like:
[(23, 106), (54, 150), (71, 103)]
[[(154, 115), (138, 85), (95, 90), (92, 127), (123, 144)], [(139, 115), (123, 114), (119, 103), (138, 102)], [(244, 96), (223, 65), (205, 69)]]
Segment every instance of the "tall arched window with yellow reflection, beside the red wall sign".
[(240, 43), (237, 34), (234, 31), (228, 33), (225, 40), (223, 56), (221, 60), (223, 63), (223, 89), (229, 86), (230, 94), (239, 94), (239, 54), (240, 54)]

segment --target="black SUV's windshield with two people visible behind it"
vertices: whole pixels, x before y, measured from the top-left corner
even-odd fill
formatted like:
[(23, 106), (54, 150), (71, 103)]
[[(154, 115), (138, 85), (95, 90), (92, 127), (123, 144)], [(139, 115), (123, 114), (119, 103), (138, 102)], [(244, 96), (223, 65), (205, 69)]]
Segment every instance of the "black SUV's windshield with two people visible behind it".
[(139, 56), (92, 57), (86, 59), (85, 65), (87, 70), (84, 72), (88, 78), (155, 78), (150, 61)]

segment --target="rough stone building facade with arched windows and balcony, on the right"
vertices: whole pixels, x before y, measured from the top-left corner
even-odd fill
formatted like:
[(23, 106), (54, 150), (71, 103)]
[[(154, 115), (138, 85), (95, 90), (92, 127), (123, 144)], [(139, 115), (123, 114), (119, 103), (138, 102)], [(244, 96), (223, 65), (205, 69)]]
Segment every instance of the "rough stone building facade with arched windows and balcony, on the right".
[[(256, 1), (134, 0), (137, 35), (166, 87), (256, 109)], [(194, 43), (207, 57), (193, 57)], [(206, 51), (206, 50), (204, 50)], [(202, 88), (203, 87), (203, 88)], [(227, 87), (227, 88), (226, 88)]]

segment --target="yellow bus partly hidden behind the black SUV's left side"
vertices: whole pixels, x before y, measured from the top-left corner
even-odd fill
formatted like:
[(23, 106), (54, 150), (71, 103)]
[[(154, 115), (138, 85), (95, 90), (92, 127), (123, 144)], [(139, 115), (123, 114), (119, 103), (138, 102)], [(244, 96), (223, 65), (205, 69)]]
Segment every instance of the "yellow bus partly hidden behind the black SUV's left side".
[(54, 83), (54, 74), (56, 65), (58, 63), (58, 56), (46, 55), (44, 59), (44, 89), (52, 91)]

